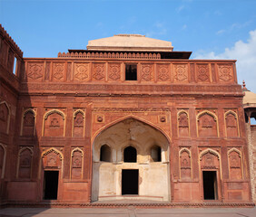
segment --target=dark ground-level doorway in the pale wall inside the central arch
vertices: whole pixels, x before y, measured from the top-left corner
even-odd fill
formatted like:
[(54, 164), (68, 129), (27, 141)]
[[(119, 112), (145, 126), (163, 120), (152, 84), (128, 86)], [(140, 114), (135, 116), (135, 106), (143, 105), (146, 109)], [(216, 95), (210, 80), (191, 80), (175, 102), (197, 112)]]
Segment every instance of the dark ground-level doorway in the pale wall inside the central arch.
[(139, 193), (139, 170), (122, 170), (122, 195)]

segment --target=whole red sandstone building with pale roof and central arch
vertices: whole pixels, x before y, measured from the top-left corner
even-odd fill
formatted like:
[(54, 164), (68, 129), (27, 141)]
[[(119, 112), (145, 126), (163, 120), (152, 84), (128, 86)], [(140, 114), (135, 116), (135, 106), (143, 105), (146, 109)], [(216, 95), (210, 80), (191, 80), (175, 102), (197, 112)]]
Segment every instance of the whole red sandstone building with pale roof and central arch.
[(0, 31), (1, 203), (252, 204), (235, 61), (136, 34), (24, 58)]

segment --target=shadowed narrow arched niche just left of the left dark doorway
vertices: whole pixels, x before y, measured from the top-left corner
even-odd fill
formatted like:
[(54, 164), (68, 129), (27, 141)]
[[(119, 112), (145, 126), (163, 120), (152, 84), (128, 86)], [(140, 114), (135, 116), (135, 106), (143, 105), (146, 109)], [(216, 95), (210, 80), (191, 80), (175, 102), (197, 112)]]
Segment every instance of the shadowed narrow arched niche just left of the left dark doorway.
[(19, 178), (29, 179), (31, 176), (32, 153), (24, 149), (19, 157)]

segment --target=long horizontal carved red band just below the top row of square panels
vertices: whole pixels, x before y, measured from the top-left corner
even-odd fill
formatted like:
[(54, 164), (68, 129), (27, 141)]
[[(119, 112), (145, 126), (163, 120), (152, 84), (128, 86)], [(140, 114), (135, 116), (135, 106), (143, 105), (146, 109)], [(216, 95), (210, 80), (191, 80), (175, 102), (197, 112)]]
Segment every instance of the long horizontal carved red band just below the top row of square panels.
[[(138, 83), (139, 84), (139, 83)], [(22, 85), (21, 86), (21, 90), (23, 92), (27, 92), (27, 89), (31, 90), (31, 92), (33, 92), (33, 90), (36, 90), (38, 92), (38, 90), (46, 90), (46, 91), (60, 91), (60, 90), (64, 90), (66, 92), (74, 92), (75, 91), (87, 91), (87, 90), (94, 90), (94, 91), (107, 91), (107, 94), (109, 95), (109, 89), (110, 87), (113, 87), (113, 84), (108, 83), (108, 84), (96, 84), (96, 83), (26, 83), (26, 85)], [(114, 91), (116, 92), (116, 94), (119, 95), (123, 95), (123, 93), (120, 93), (120, 91), (125, 91), (126, 90), (126, 85), (117, 85), (114, 87)], [(238, 85), (225, 85), (225, 86), (220, 86), (220, 85), (200, 85), (200, 86), (196, 86), (196, 85), (185, 85), (185, 84), (173, 84), (173, 85), (158, 85), (158, 84), (154, 84), (154, 85), (146, 85), (146, 84), (140, 84), (140, 85), (129, 85), (129, 90), (131, 91), (136, 91), (135, 94), (144, 94), (141, 93), (142, 90), (147, 90), (150, 94), (152, 94), (152, 92), (158, 92), (159, 94), (166, 94), (168, 92), (168, 94), (173, 94), (176, 91), (181, 94), (181, 92), (184, 93), (188, 93), (188, 94), (207, 94), (207, 92), (209, 92), (209, 94), (213, 94), (214, 93), (222, 93), (222, 94), (227, 94), (227, 93), (232, 93), (232, 94), (237, 94), (237, 92), (241, 92), (241, 87)], [(148, 94), (149, 94), (148, 93)], [(177, 93), (177, 94), (178, 94)], [(145, 95), (148, 95), (145, 94)]]

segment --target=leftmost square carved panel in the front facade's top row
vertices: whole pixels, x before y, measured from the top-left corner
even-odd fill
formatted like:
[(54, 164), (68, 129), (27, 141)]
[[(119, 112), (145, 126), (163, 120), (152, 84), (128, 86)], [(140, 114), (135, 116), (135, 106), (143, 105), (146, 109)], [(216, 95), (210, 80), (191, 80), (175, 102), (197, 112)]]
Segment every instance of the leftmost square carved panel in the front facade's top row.
[(44, 62), (28, 62), (26, 75), (27, 80), (42, 80), (44, 75)]

